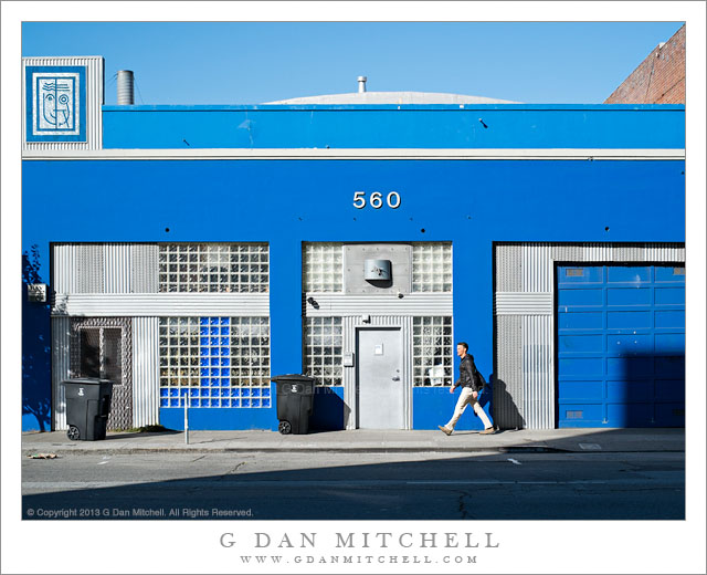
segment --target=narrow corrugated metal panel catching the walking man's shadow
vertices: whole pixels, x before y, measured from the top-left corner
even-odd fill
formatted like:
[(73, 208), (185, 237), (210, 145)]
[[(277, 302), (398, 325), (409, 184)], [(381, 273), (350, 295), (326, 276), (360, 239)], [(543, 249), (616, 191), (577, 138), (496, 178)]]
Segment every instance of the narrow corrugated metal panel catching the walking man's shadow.
[(523, 317), (497, 317), (493, 416), (500, 429), (526, 427), (521, 353)]

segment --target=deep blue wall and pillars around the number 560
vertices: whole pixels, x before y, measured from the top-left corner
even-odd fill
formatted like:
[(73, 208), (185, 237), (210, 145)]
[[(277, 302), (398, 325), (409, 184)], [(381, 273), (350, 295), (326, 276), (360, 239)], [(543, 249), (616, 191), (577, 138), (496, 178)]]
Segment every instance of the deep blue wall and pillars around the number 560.
[[(270, 242), (273, 374), (302, 370), (303, 241), (453, 241), (454, 334), (487, 379), (494, 241), (685, 241), (684, 163), (673, 160), (38, 160), (22, 177), (22, 250), (39, 247), (45, 281), (50, 242)], [(357, 190), (402, 202), (358, 210)], [(29, 330), (50, 342), (45, 315)], [(49, 363), (28, 356), (23, 369), (45, 395)], [(446, 390), (415, 397), (437, 391), (449, 417)], [(415, 399), (415, 421), (433, 427), (419, 411), (428, 399)]]

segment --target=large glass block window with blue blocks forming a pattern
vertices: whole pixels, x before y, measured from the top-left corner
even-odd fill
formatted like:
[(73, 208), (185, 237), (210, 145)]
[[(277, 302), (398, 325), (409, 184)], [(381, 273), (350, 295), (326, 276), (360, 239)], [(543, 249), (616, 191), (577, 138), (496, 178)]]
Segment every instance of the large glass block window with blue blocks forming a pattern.
[(271, 407), (267, 317), (160, 317), (160, 407)]

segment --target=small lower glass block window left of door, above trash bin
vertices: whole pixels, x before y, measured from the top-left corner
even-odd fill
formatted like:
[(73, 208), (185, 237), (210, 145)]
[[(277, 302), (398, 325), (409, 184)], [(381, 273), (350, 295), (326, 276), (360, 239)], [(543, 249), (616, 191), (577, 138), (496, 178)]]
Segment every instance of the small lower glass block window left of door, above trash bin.
[(305, 324), (305, 373), (316, 385), (341, 385), (344, 330), (340, 317), (307, 317)]

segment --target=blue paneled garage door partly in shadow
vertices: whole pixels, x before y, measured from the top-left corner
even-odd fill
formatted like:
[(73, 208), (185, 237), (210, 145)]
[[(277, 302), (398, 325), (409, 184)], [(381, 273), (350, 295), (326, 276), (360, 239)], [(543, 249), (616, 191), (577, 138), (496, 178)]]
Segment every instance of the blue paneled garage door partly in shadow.
[(685, 268), (558, 266), (559, 427), (685, 426)]

